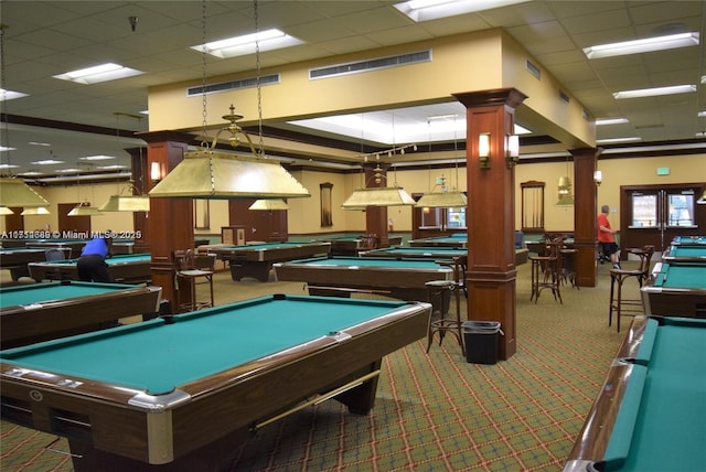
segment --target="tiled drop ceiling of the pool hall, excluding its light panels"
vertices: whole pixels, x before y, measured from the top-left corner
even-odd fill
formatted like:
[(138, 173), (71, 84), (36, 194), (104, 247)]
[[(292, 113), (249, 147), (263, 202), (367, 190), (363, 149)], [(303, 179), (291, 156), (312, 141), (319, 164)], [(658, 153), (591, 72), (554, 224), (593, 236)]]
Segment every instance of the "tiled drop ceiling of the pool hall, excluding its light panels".
[[(454, 18), (415, 23), (392, 1), (266, 1), (258, 2), (260, 29), (278, 28), (303, 41), (286, 50), (260, 54), (263, 67), (373, 50), (400, 43), (503, 28), (543, 64), (586, 110), (599, 118), (624, 117), (629, 122), (598, 127), (598, 139), (639, 138), (639, 143), (703, 142), (706, 131), (706, 39), (704, 1), (527, 1)], [(36, 170), (44, 159), (76, 167), (81, 157), (115, 155), (129, 165), (126, 148), (142, 141), (147, 131), (147, 90), (150, 86), (199, 78), (203, 56), (190, 49), (203, 37), (201, 1), (18, 1), (0, 3), (4, 32), (4, 88), (29, 96), (2, 103), (12, 122), (3, 124), (11, 147), (12, 173)], [(207, 39), (254, 31), (250, 1), (207, 1)], [(130, 18), (136, 17), (135, 31)], [(675, 32), (698, 32), (702, 44), (692, 47), (589, 61), (582, 49)], [(95, 85), (53, 78), (69, 69), (115, 62), (145, 74)], [(208, 58), (210, 75), (255, 69), (255, 56)], [(665, 85), (697, 84), (696, 93), (616, 100), (613, 93)], [(461, 115), (459, 104), (379, 110), (366, 119), (421, 130), (429, 139), (430, 116)], [(342, 149), (361, 142), (388, 146), (364, 130), (347, 133), (292, 124), (268, 124), (268, 133), (292, 130), (327, 137)], [(702, 135), (703, 136), (703, 135)], [(459, 136), (463, 139), (464, 136)], [(306, 139), (306, 138), (304, 138)], [(439, 137), (456, 141), (448, 132)], [(436, 140), (436, 138), (435, 138)], [(30, 144), (34, 142), (35, 144)], [(51, 146), (39, 146), (47, 143)], [(523, 152), (528, 149), (524, 149)], [(7, 153), (1, 153), (7, 163)], [(321, 158), (323, 161), (323, 158)], [(312, 159), (315, 162), (317, 158)]]

